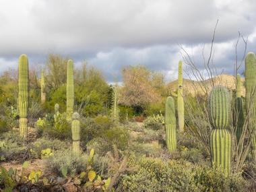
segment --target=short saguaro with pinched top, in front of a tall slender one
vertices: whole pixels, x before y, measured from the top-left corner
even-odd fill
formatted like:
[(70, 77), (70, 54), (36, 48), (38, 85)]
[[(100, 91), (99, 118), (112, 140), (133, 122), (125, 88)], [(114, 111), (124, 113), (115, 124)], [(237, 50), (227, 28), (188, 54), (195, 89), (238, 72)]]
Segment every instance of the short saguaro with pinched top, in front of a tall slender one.
[(79, 114), (73, 113), (72, 115), (72, 139), (73, 139), (73, 152), (80, 152), (80, 121)]

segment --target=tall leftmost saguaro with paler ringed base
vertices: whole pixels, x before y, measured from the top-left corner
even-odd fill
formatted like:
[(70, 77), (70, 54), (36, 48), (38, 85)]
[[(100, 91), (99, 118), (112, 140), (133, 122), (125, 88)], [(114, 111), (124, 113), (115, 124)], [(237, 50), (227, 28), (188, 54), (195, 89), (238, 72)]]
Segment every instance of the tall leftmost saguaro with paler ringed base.
[(28, 137), (28, 94), (29, 94), (29, 75), (28, 75), (28, 57), (20, 55), (19, 58), (19, 94), (18, 108), (20, 115), (20, 135), (27, 139)]

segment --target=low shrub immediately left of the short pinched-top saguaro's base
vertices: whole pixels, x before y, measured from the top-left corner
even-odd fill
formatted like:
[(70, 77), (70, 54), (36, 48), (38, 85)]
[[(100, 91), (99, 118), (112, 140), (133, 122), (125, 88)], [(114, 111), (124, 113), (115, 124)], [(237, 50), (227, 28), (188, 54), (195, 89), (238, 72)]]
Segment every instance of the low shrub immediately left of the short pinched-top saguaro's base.
[(60, 141), (58, 139), (51, 139), (48, 137), (42, 137), (29, 143), (28, 148), (35, 158), (40, 158), (42, 150), (47, 148), (53, 150), (53, 153), (57, 150), (66, 150), (71, 147), (70, 143)]

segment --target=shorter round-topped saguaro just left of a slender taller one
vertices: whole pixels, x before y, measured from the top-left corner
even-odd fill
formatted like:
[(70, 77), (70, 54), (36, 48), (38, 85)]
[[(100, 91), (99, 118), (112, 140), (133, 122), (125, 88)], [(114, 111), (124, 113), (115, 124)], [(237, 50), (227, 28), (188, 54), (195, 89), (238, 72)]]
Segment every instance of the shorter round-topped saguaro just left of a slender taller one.
[(166, 145), (169, 152), (176, 150), (176, 117), (174, 99), (168, 96), (165, 104), (165, 128), (166, 128)]

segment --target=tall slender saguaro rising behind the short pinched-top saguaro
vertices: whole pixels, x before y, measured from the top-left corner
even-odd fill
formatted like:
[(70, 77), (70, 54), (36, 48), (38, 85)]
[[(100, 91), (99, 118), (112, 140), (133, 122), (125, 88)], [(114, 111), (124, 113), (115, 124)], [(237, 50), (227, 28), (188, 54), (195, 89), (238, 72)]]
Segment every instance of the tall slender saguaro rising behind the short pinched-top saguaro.
[(74, 106), (73, 61), (67, 61), (67, 121), (72, 120)]

